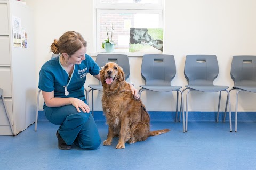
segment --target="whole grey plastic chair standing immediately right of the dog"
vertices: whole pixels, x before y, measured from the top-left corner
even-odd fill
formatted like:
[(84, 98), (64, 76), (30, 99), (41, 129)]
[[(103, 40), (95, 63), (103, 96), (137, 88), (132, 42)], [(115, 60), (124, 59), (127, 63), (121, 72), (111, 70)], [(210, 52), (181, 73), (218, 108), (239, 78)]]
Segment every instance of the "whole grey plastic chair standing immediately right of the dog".
[[(156, 92), (177, 91), (176, 101), (176, 118), (178, 118), (178, 99), (179, 92), (181, 101), (183, 101), (183, 93), (180, 90), (182, 86), (172, 86), (171, 81), (176, 75), (176, 66), (173, 55), (167, 54), (145, 54), (141, 64), (141, 76), (145, 80), (145, 85), (140, 85), (139, 95), (142, 91), (150, 90)], [(183, 108), (183, 102), (181, 102)], [(185, 132), (185, 116), (183, 111), (183, 132)]]

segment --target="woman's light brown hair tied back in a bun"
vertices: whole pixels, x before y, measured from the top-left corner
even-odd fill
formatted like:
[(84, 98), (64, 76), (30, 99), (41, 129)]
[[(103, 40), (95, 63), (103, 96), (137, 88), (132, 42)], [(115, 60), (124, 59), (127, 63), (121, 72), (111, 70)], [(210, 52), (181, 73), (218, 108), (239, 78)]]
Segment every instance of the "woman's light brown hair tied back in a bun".
[(82, 47), (87, 47), (87, 42), (82, 35), (75, 31), (68, 31), (59, 40), (54, 39), (51, 50), (54, 54), (67, 53), (71, 56)]

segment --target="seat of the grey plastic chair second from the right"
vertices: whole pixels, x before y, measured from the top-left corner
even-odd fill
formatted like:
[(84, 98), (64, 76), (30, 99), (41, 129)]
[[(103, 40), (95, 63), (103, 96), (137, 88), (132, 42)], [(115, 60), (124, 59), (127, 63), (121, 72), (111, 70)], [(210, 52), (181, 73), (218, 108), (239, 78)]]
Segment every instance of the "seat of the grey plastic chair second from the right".
[(218, 86), (218, 85), (186, 85), (185, 87), (191, 88), (197, 91), (202, 92), (219, 92), (222, 90), (226, 90), (228, 86)]

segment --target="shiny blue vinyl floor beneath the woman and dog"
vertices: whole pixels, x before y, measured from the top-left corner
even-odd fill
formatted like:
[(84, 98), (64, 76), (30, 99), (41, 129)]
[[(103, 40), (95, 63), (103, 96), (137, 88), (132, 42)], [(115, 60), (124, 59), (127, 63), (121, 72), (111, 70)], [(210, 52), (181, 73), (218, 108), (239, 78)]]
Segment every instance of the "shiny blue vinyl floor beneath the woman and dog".
[[(96, 120), (96, 119), (95, 119)], [(102, 141), (108, 128), (97, 121)], [(146, 141), (96, 150), (58, 149), (58, 126), (45, 119), (15, 137), (0, 136), (0, 169), (256, 169), (256, 122), (238, 122), (238, 132), (229, 131), (229, 122), (189, 121), (188, 132), (173, 120), (151, 121), (151, 130), (170, 132)]]

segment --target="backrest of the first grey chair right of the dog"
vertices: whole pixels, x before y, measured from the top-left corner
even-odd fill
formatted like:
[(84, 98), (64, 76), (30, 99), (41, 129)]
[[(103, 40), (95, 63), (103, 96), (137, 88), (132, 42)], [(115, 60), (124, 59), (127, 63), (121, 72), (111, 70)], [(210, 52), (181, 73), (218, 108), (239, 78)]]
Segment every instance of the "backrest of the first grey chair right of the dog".
[(176, 74), (173, 55), (145, 54), (142, 58), (141, 76), (146, 85), (170, 86)]

